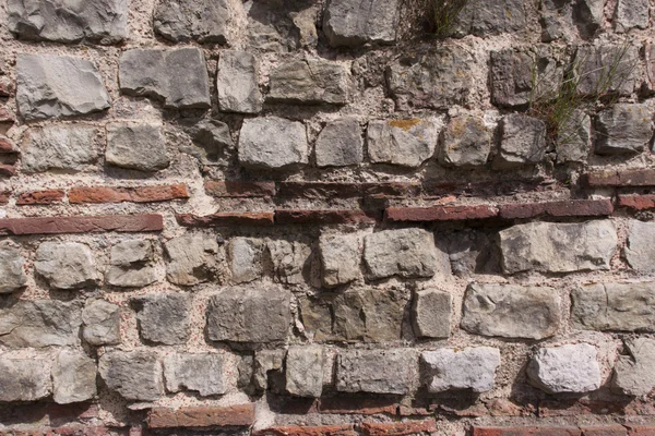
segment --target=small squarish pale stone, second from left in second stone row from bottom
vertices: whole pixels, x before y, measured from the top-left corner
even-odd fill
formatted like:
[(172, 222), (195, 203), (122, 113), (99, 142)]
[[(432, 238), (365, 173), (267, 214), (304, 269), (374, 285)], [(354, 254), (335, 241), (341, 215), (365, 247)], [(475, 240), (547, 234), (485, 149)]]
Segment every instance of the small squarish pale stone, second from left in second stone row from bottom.
[(82, 311), (82, 337), (92, 346), (120, 343), (120, 308), (105, 300), (91, 300)]

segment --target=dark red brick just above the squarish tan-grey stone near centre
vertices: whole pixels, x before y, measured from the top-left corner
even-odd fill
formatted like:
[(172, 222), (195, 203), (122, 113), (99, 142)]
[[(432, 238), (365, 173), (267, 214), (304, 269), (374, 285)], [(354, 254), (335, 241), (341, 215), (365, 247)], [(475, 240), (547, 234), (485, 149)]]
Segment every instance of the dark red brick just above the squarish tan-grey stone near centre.
[(497, 215), (498, 209), (487, 205), (388, 207), (384, 211), (384, 219), (392, 222), (461, 221), (493, 218)]

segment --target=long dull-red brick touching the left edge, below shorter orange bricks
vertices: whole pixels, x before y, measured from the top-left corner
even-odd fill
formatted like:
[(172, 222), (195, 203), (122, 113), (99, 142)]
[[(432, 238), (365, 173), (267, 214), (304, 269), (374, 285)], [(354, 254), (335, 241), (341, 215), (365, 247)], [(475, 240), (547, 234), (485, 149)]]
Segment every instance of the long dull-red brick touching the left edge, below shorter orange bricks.
[(37, 217), (0, 219), (0, 234), (58, 234), (145, 232), (164, 228), (160, 215), (110, 215), (98, 217)]

